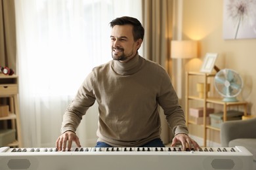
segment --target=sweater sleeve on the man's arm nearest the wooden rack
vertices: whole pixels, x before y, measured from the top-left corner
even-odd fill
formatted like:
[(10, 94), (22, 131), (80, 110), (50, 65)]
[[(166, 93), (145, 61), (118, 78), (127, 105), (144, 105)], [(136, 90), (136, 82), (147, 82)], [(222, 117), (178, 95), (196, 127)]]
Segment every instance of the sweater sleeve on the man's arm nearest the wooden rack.
[(166, 71), (163, 71), (161, 77), (160, 93), (158, 102), (162, 107), (169, 127), (173, 129), (175, 135), (179, 133), (188, 134), (184, 112), (179, 105), (179, 99), (171, 84), (171, 78)]

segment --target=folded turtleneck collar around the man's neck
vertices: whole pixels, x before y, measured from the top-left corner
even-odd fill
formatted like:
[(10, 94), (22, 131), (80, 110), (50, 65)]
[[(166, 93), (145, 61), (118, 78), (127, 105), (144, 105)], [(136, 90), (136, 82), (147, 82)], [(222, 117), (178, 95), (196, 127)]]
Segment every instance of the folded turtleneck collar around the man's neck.
[(119, 75), (133, 75), (142, 67), (143, 59), (137, 54), (127, 63), (118, 60), (112, 61), (112, 69)]

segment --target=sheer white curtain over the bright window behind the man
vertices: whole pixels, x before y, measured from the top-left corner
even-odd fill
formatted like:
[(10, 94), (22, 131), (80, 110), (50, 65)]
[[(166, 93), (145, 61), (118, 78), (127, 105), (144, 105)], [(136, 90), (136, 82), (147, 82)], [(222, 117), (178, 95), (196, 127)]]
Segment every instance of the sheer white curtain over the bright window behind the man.
[[(64, 110), (85, 76), (112, 59), (109, 22), (124, 15), (140, 20), (141, 4), (137, 0), (16, 0), (15, 6), (24, 146), (53, 147)], [(77, 130), (83, 146), (96, 143), (97, 112), (95, 104)]]

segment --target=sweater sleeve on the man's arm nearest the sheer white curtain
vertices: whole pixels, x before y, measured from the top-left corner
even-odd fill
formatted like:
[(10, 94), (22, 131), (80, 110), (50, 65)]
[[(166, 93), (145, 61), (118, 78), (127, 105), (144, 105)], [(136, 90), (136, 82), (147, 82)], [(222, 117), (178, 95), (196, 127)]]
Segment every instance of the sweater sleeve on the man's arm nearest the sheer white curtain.
[(90, 73), (81, 84), (72, 103), (65, 110), (63, 115), (61, 133), (65, 131), (76, 131), (82, 116), (85, 115), (89, 107), (95, 103), (95, 94), (93, 92), (94, 75)]

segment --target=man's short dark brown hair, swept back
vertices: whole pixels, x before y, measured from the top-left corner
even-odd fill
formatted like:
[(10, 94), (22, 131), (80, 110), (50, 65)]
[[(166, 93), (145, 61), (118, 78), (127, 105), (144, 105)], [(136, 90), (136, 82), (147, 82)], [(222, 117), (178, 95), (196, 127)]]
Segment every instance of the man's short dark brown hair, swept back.
[(133, 39), (137, 41), (138, 39), (144, 38), (144, 27), (140, 24), (139, 20), (136, 18), (132, 18), (129, 16), (123, 16), (120, 18), (116, 18), (110, 22), (110, 26), (113, 28), (115, 25), (133, 25)]

